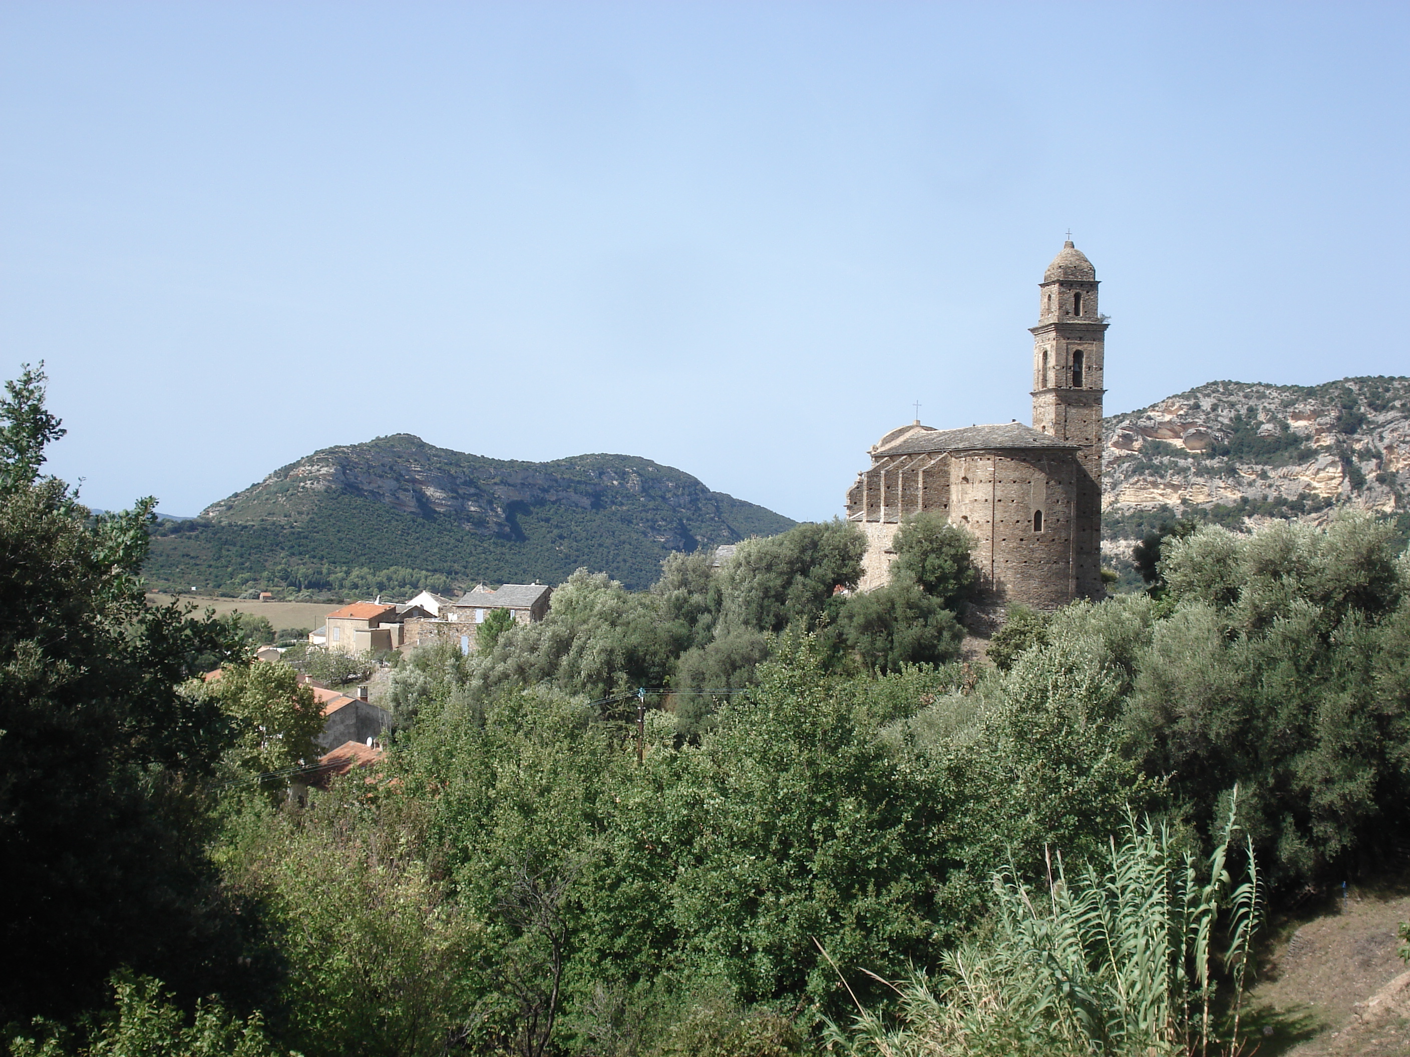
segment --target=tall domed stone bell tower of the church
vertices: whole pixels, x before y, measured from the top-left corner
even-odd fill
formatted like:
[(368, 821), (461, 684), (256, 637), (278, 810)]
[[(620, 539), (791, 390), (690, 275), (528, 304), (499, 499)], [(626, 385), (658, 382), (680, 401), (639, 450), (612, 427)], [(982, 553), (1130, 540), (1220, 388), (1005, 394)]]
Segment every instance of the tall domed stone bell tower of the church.
[(1101, 598), (1101, 395), (1107, 317), (1097, 310), (1097, 269), (1072, 240), (1038, 285), (1034, 335), (1034, 428), (1080, 445), (1073, 488), (1076, 593)]

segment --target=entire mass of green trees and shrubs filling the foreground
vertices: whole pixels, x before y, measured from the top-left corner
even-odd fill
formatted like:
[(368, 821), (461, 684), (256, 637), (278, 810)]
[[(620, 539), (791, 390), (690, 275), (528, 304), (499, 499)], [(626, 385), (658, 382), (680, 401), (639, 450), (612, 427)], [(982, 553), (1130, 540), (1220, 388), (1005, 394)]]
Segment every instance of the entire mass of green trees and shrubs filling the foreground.
[(382, 762), (300, 799), (307, 691), (142, 603), (151, 502), (94, 523), (38, 476), (39, 382), (0, 409), (16, 1054), (1246, 1053), (1261, 920), (1402, 861), (1385, 520), (1186, 527), (1153, 591), (981, 669), (939, 519), (870, 595), (840, 521), (575, 572), (403, 658)]

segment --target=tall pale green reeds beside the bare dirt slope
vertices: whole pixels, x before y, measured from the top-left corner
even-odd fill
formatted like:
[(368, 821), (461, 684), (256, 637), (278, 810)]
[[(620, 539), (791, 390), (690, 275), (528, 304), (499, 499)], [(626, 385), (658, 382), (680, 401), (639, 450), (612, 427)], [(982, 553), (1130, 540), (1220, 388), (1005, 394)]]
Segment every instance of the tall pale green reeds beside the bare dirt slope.
[(948, 951), (933, 977), (893, 984), (893, 1010), (859, 1003), (849, 1027), (829, 1025), (832, 1051), (1235, 1057), (1262, 912), (1249, 841), (1242, 881), (1230, 877), (1237, 801), (1238, 789), (1206, 863), (1131, 817), (1100, 863), (1070, 871), (1050, 854), (1036, 884), (998, 871), (988, 934)]

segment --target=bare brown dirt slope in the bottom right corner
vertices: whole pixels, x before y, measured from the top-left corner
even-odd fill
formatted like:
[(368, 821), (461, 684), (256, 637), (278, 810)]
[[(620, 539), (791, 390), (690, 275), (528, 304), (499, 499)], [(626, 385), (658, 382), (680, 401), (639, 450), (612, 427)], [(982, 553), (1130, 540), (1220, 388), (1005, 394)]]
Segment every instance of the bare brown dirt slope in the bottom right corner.
[(1410, 1054), (1410, 972), (1396, 927), (1410, 891), (1352, 889), (1289, 922), (1251, 995), (1261, 1057)]

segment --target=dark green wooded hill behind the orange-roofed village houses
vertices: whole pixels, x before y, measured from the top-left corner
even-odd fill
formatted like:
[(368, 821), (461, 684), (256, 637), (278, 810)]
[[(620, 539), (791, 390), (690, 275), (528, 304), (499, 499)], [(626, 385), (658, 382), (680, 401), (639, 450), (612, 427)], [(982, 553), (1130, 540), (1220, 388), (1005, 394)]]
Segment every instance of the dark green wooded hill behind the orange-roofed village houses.
[(632, 588), (671, 551), (773, 536), (792, 520), (632, 455), (520, 462), (396, 434), (316, 451), (164, 523), (151, 582), (296, 595), (557, 583), (575, 568)]

